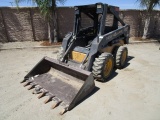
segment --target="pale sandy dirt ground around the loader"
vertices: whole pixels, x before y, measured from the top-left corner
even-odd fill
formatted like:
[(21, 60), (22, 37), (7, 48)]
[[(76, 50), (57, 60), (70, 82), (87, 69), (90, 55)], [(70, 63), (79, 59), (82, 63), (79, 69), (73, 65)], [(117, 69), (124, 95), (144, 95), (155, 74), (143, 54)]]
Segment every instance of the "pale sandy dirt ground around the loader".
[[(36, 43), (37, 44), (37, 43)], [(12, 45), (11, 45), (12, 46)], [(28, 45), (29, 46), (29, 45)], [(1, 44), (1, 47), (3, 45)], [(59, 48), (0, 51), (0, 120), (160, 120), (159, 44), (128, 45), (126, 67), (63, 116), (20, 81), (43, 57), (55, 58)]]

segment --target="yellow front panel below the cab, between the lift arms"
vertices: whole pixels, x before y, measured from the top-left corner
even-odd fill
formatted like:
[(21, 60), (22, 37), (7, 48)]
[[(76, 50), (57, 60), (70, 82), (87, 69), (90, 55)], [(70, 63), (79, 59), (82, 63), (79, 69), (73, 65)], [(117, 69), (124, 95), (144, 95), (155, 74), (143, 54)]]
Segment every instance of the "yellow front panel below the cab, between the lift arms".
[(86, 57), (86, 54), (72, 51), (71, 52), (71, 59), (76, 61), (76, 62), (82, 62)]

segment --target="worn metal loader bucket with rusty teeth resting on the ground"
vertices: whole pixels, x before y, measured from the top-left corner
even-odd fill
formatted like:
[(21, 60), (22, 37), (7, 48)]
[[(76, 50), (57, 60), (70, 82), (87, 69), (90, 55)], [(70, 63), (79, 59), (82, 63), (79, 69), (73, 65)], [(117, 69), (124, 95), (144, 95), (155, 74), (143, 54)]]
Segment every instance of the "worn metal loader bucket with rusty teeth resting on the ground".
[(53, 108), (62, 105), (61, 114), (71, 110), (95, 88), (92, 73), (76, 69), (59, 61), (44, 57), (25, 77), (24, 86), (40, 93), (38, 98), (48, 96), (45, 103), (54, 101)]

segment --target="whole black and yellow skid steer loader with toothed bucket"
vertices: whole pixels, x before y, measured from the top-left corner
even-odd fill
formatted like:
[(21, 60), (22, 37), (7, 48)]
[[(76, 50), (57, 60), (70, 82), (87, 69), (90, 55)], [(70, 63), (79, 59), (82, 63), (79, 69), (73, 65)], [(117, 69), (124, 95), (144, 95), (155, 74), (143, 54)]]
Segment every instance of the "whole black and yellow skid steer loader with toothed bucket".
[[(120, 25), (119, 25), (120, 24)], [(94, 79), (107, 81), (113, 68), (123, 68), (130, 26), (119, 17), (119, 8), (103, 3), (75, 6), (73, 32), (62, 42), (57, 60), (44, 57), (22, 83), (34, 88), (38, 98), (48, 96), (61, 114), (71, 110), (95, 88)]]

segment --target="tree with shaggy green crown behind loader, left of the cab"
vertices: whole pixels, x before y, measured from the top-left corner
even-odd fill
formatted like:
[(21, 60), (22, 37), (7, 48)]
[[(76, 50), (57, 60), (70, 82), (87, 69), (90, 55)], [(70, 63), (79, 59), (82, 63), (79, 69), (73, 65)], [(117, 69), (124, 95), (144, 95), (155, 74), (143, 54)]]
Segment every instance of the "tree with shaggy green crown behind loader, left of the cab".
[[(56, 4), (59, 2), (64, 4), (66, 0), (15, 0), (16, 5), (20, 2), (32, 2), (37, 4), (40, 9), (41, 14), (46, 18), (48, 21), (48, 39), (49, 42), (52, 43), (53, 39), (54, 42), (57, 42), (57, 14), (56, 14)], [(53, 23), (54, 32), (51, 30), (51, 23)], [(53, 35), (54, 34), (54, 35)], [(53, 38), (54, 36), (54, 38)]]

